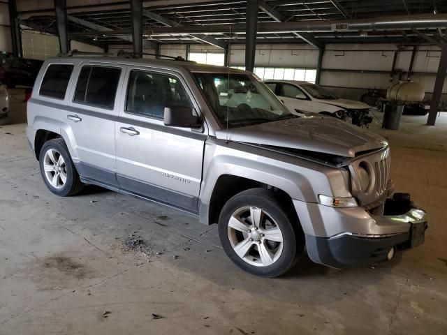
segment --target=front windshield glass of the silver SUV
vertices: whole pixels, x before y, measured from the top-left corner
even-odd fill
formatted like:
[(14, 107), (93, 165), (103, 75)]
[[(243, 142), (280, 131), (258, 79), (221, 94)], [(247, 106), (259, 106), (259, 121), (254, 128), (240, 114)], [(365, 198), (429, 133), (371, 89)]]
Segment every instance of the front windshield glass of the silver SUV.
[(222, 124), (229, 128), (295, 117), (268, 89), (244, 73), (193, 73)]

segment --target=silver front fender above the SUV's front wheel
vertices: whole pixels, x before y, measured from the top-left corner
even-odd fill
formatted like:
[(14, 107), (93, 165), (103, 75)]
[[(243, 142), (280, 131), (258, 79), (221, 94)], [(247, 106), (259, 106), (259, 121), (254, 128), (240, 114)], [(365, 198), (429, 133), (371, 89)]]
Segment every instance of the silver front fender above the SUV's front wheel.
[(205, 143), (200, 201), (210, 204), (219, 177), (244, 177), (286, 192), (292, 199), (318, 202), (318, 194), (351, 196), (346, 171), (261, 147), (211, 138)]

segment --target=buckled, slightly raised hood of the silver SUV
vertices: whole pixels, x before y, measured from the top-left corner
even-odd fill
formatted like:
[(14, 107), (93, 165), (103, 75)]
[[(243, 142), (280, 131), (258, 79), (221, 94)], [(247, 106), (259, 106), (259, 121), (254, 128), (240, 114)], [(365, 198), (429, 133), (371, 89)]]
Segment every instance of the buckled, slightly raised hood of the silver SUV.
[(354, 157), (360, 151), (380, 149), (388, 142), (370, 131), (333, 117), (298, 117), (254, 126), (221, 129), (221, 140), (264, 144)]

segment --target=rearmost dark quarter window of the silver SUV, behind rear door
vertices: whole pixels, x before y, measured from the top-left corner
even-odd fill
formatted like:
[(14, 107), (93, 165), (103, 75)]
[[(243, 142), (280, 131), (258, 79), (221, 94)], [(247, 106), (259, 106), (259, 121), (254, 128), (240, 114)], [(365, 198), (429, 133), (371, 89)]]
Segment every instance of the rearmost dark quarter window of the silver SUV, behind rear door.
[(64, 100), (68, 80), (70, 80), (72, 72), (73, 65), (53, 64), (48, 66), (47, 72), (43, 76), (39, 94), (41, 96)]

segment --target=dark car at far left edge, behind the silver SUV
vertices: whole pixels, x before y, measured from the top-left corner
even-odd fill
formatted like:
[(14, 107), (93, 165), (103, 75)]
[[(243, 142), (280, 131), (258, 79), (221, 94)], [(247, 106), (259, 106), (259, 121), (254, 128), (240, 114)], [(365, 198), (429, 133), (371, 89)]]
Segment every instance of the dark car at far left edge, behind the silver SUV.
[(0, 82), (10, 89), (18, 85), (33, 87), (42, 64), (38, 59), (8, 58), (0, 68)]

